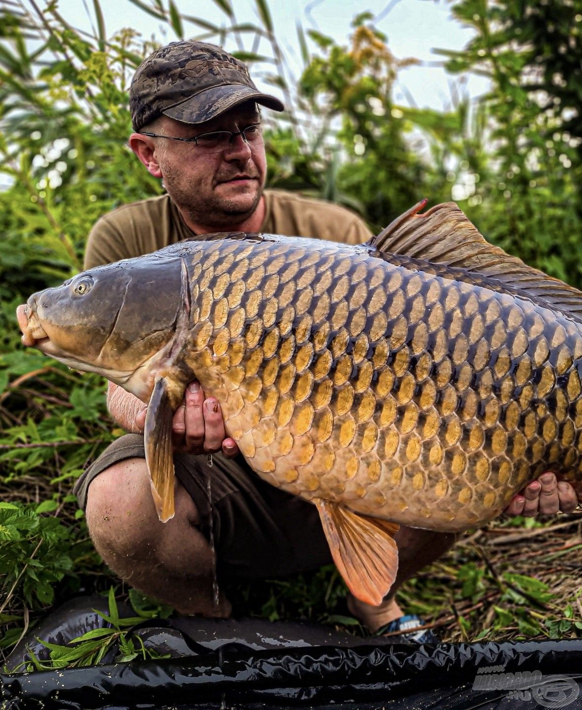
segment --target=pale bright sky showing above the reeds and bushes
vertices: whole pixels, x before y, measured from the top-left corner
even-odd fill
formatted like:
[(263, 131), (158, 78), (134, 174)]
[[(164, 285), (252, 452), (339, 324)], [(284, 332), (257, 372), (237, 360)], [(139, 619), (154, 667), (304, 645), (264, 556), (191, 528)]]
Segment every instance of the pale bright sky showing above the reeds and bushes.
[[(24, 0), (26, 3), (27, 0)], [(163, 24), (139, 10), (129, 0), (99, 0), (105, 18), (107, 35), (124, 27), (131, 27), (144, 38), (155, 35), (162, 43), (176, 40), (176, 36)], [(151, 0), (142, 0), (147, 4)], [(219, 7), (220, 0), (175, 0), (182, 13), (217, 25), (226, 24), (226, 16)], [(439, 64), (442, 58), (433, 52), (435, 48), (462, 49), (472, 38), (473, 31), (460, 25), (451, 16), (451, 3), (447, 0), (365, 0), (365, 4), (355, 0), (268, 0), (273, 17), (276, 38), (286, 54), (289, 67), (294, 75), (301, 72), (301, 58), (296, 25), (303, 30), (314, 29), (333, 37), (338, 43), (347, 45), (351, 32), (352, 18), (362, 11), (370, 11), (379, 17), (376, 26), (388, 37), (388, 46), (399, 59), (414, 57), (421, 60), (417, 67), (409, 67), (400, 72), (395, 99), (404, 105), (446, 109), (451, 105), (451, 85), (458, 83), (458, 77), (447, 75)], [(45, 4), (40, 3), (41, 6)], [(168, 0), (163, 0), (168, 6)], [(239, 23), (261, 24), (257, 13), (256, 0), (232, 0)], [(92, 0), (58, 0), (60, 13), (78, 28), (90, 31), (94, 21)], [(169, 31), (168, 31), (169, 30)], [(197, 28), (185, 27), (186, 34), (194, 35)], [(234, 45), (227, 45), (234, 50)], [(259, 50), (260, 51), (260, 50)], [(266, 50), (265, 50), (266, 53)], [(260, 84), (257, 81), (257, 84)], [(260, 86), (259, 86), (260, 87)], [(265, 87), (260, 87), (265, 88)], [(481, 77), (467, 77), (463, 92), (477, 97), (487, 89), (487, 82)], [(271, 93), (276, 89), (269, 88)]]

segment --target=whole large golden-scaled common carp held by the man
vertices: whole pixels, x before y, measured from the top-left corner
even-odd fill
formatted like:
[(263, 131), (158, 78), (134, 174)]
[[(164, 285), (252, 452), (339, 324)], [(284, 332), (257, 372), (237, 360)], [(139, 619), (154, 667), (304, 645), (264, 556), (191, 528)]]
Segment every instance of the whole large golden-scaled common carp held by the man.
[(149, 402), (173, 515), (171, 417), (198, 378), (269, 483), (318, 506), (377, 604), (398, 523), (463, 530), (554, 470), (582, 495), (582, 293), (490, 244), (455, 204), (370, 244), (217, 234), (93, 268), (18, 308), (23, 342)]

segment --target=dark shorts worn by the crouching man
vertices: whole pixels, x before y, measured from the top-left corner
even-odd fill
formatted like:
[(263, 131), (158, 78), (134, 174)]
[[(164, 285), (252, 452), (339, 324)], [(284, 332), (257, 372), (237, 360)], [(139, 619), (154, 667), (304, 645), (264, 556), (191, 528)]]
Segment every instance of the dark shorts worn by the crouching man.
[[(134, 457), (145, 458), (141, 435), (127, 434), (107, 447), (75, 484), (80, 507), (96, 476)], [(242, 457), (213, 454), (209, 466), (206, 456), (175, 454), (174, 466), (198, 509), (200, 531), (209, 541), (212, 533), (219, 577), (284, 577), (332, 561), (316, 507), (259, 479)]]

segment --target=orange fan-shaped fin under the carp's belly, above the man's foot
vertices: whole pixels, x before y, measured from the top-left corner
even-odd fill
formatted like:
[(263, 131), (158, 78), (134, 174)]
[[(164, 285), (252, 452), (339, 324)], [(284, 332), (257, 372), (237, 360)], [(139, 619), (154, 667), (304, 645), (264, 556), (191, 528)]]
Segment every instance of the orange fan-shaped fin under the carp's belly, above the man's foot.
[(357, 515), (320, 499), (313, 503), (348, 589), (360, 601), (378, 606), (396, 579), (398, 547), (392, 536), (399, 525)]

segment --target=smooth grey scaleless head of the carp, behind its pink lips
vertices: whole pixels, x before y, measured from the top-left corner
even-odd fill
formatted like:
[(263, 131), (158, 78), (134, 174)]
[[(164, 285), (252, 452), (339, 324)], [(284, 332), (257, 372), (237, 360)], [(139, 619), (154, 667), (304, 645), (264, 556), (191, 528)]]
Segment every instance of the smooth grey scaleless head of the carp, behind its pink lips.
[(152, 255), (80, 273), (28, 307), (50, 339), (47, 354), (107, 376), (135, 371), (168, 343), (181, 291), (180, 258)]

